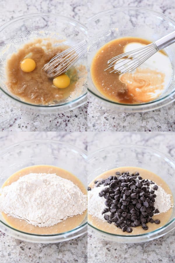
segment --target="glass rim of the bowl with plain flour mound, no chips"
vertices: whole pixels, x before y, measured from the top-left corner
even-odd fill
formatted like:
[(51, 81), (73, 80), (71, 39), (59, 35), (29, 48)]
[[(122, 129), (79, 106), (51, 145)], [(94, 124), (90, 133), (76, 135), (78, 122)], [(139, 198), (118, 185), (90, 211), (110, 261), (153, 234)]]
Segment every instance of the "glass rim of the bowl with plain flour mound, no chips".
[[(43, 140), (43, 139), (41, 139), (41, 140), (26, 140), (26, 141), (20, 141), (18, 143), (11, 144), (7, 148), (3, 148), (1, 150), (1, 155), (6, 154), (6, 152), (8, 150), (13, 149), (16, 146), (22, 146), (22, 145), (25, 145), (27, 143), (55, 143), (55, 144), (57, 143), (57, 144), (62, 145), (62, 146), (68, 146), (69, 149), (74, 150), (76, 153), (80, 154), (85, 160), (87, 160), (87, 151), (85, 151), (85, 150), (81, 150), (80, 148), (78, 148), (78, 147), (76, 147), (76, 146), (74, 146), (74, 145), (72, 145), (70, 143), (67, 143), (67, 142), (63, 142), (63, 141), (61, 142), (61, 141), (57, 141), (57, 140)], [(8, 229), (12, 229), (15, 232), (19, 232), (19, 233), (22, 233), (22, 234), (25, 234), (25, 235), (29, 235), (29, 236), (36, 236), (36, 237), (57, 237), (57, 236), (58, 237), (62, 237), (64, 235), (76, 233), (79, 230), (85, 228), (85, 226), (87, 226), (87, 222), (85, 222), (81, 226), (77, 226), (74, 229), (71, 229), (69, 231), (62, 232), (62, 233), (59, 233), (59, 234), (38, 235), (38, 234), (27, 233), (27, 232), (15, 229), (12, 226), (9, 226), (8, 224), (2, 222), (1, 220), (0, 220), (0, 223), (3, 224), (4, 226), (6, 226)]]

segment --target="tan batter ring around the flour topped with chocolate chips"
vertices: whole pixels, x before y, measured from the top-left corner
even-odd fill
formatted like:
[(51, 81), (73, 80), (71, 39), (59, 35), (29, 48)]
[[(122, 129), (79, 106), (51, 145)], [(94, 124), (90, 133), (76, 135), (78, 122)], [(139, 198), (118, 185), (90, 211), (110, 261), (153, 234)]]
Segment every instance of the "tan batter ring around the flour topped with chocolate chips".
[[(89, 186), (91, 188), (93, 188), (93, 187), (95, 187), (95, 184), (94, 184), (95, 180), (106, 179), (109, 176), (116, 175), (115, 172), (122, 173), (122, 172), (126, 172), (126, 171), (128, 171), (130, 174), (139, 172), (140, 176), (143, 179), (150, 179), (153, 182), (155, 182), (158, 186), (161, 186), (167, 194), (171, 195), (171, 203), (174, 204), (172, 192), (171, 192), (169, 186), (162, 180), (162, 178), (160, 178), (159, 176), (157, 176), (156, 174), (154, 174), (148, 170), (145, 170), (145, 169), (142, 169), (139, 167), (119, 167), (119, 168), (108, 170), (107, 172), (104, 172), (103, 174), (100, 174), (99, 176), (97, 176), (89, 184)], [(123, 232), (121, 229), (119, 229), (114, 224), (109, 224), (107, 221), (102, 221), (101, 219), (94, 217), (91, 214), (88, 214), (88, 221), (92, 226), (95, 226), (97, 229), (100, 229), (102, 231), (112, 233), (112, 234), (116, 234), (116, 235), (131, 235), (132, 236), (132, 235), (145, 234), (145, 233), (154, 231), (154, 230), (160, 228), (161, 226), (164, 226), (169, 221), (171, 214), (172, 214), (172, 208), (170, 208), (165, 213), (154, 215), (153, 219), (154, 220), (159, 219), (160, 224), (148, 222), (148, 223), (146, 223), (148, 226), (148, 230), (143, 230), (141, 226), (137, 226), (137, 227), (132, 227), (131, 233)]]

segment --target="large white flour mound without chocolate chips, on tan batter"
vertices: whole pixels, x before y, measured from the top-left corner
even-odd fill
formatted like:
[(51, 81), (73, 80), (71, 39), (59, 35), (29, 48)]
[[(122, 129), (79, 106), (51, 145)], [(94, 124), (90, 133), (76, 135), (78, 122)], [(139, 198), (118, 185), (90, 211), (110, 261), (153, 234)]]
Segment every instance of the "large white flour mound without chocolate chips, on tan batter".
[(87, 209), (87, 196), (56, 174), (27, 174), (1, 189), (1, 211), (34, 226), (53, 226)]

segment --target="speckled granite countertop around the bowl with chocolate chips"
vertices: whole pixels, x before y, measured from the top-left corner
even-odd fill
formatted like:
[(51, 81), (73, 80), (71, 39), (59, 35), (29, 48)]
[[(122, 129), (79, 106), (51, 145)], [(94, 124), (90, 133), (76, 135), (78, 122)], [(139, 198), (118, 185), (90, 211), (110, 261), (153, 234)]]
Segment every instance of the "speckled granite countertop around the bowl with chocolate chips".
[[(88, 133), (88, 153), (118, 144), (150, 146), (175, 158), (175, 134), (172, 132), (92, 132)], [(175, 231), (138, 244), (119, 244), (88, 234), (88, 263), (171, 263), (175, 261)]]

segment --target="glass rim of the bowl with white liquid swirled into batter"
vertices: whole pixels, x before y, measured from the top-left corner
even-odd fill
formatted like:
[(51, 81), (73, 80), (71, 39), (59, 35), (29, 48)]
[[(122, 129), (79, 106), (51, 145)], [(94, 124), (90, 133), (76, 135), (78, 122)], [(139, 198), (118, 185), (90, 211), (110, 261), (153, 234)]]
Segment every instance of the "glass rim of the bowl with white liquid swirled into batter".
[[(88, 22), (90, 22), (91, 20), (96, 20), (97, 18), (103, 16), (103, 15), (106, 15), (106, 14), (110, 14), (110, 13), (116, 13), (117, 11), (125, 11), (125, 10), (131, 10), (131, 11), (134, 11), (134, 10), (142, 10), (142, 11), (147, 11), (147, 12), (150, 12), (150, 13), (153, 13), (153, 14), (157, 14), (159, 15), (160, 17), (164, 18), (165, 20), (168, 20), (169, 22), (171, 22), (173, 25), (174, 25), (174, 29), (175, 29), (175, 20), (173, 20), (172, 18), (169, 18), (169, 16), (167, 15), (164, 15), (163, 13), (159, 13), (157, 11), (154, 11), (154, 10), (151, 10), (151, 9), (148, 9), (148, 8), (143, 8), (143, 7), (117, 7), (117, 8), (112, 8), (112, 9), (107, 9), (107, 10), (104, 10), (104, 11), (101, 11), (99, 13), (96, 13), (95, 15), (91, 15), (89, 18), (88, 18)], [(93, 84), (94, 85), (94, 84)], [(95, 85), (94, 85), (95, 86)], [(167, 105), (173, 101), (175, 101), (175, 89), (173, 91), (171, 91), (170, 94), (162, 97), (162, 98), (157, 98), (157, 100), (153, 100), (153, 101), (150, 101), (150, 102), (146, 102), (146, 103), (138, 103), (138, 104), (126, 104), (126, 103), (118, 103), (118, 102), (115, 102), (115, 101), (110, 101), (108, 100), (107, 98), (102, 98), (101, 96), (95, 94), (93, 91), (91, 91), (89, 88), (88, 88), (88, 91), (95, 97), (97, 97), (98, 99), (102, 100), (102, 101), (106, 101), (107, 103), (110, 103), (110, 104), (113, 104), (113, 105), (116, 105), (116, 106), (125, 106), (127, 108), (127, 110), (129, 110), (129, 108), (131, 109), (134, 109), (135, 111), (139, 111), (139, 106), (142, 107), (142, 106), (149, 106), (149, 105), (155, 105), (153, 109), (150, 109), (150, 110), (154, 110), (156, 108), (160, 108), (162, 107), (163, 105)], [(166, 99), (170, 98), (171, 96), (174, 95), (174, 98), (172, 98), (171, 101), (169, 101), (168, 103), (166, 103)], [(157, 103), (160, 103), (160, 102), (165, 102), (163, 105), (156, 105)], [(124, 109), (124, 108), (123, 108)], [(125, 110), (125, 109), (124, 109)]]

